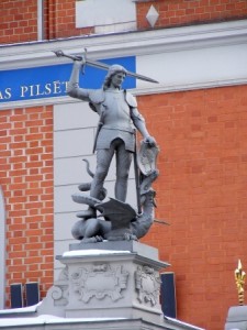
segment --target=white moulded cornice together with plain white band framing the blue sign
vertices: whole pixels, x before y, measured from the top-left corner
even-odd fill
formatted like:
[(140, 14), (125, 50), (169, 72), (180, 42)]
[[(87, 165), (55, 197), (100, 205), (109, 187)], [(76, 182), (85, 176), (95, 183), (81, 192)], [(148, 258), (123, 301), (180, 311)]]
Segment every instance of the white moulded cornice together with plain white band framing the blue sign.
[[(215, 88), (247, 84), (247, 20), (176, 29), (79, 36), (50, 42), (0, 46), (1, 70), (59, 65), (53, 51), (80, 54), (91, 59), (136, 56), (136, 70), (159, 84), (137, 80), (135, 95)], [(69, 97), (42, 99), (42, 105), (70, 102)], [(41, 100), (1, 103), (0, 109), (30, 107)]]

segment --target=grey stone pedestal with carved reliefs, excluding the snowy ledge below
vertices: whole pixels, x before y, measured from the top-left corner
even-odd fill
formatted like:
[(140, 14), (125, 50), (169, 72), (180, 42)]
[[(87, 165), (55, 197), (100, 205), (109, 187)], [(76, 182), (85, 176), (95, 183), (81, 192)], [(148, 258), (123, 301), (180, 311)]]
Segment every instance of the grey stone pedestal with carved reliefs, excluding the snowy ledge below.
[[(96, 250), (97, 249), (97, 250)], [(71, 244), (40, 314), (66, 318), (142, 318), (157, 322), (159, 271), (156, 249), (135, 241)]]

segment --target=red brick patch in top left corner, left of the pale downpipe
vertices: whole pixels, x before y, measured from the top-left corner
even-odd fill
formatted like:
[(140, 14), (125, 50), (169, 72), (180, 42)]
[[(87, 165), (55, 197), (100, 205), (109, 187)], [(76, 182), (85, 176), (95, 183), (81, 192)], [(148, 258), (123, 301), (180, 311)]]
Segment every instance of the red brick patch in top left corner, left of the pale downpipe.
[(0, 1), (0, 44), (37, 40), (37, 1)]

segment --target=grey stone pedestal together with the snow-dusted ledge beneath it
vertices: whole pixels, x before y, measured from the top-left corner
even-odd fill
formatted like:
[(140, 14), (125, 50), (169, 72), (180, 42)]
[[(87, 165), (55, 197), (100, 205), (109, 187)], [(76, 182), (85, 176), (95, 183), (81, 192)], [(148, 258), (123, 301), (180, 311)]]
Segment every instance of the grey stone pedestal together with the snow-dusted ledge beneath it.
[(77, 243), (57, 258), (64, 268), (46, 298), (0, 311), (4, 329), (203, 330), (162, 315), (159, 271), (168, 264), (157, 249), (135, 241)]

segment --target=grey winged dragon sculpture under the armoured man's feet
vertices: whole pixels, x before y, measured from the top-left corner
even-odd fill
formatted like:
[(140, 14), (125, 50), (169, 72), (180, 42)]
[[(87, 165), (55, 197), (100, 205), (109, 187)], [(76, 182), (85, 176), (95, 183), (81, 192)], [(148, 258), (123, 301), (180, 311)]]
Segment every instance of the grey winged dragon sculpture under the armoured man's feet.
[[(89, 162), (87, 172), (93, 177), (90, 170)], [(101, 191), (100, 199), (89, 196), (86, 191), (90, 190), (90, 183), (80, 184), (80, 191), (72, 194), (72, 200), (78, 204), (88, 205), (89, 209), (80, 211), (77, 217), (80, 218), (72, 229), (71, 234), (81, 243), (101, 242), (103, 240), (138, 240), (143, 238), (154, 222), (154, 208), (156, 207), (156, 191), (151, 184), (158, 177), (158, 169), (151, 169), (148, 175), (142, 174), (139, 194), (142, 204), (142, 213), (137, 213), (126, 202), (114, 198), (104, 201), (106, 189)], [(97, 212), (99, 216), (97, 216)]]

